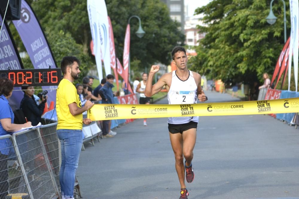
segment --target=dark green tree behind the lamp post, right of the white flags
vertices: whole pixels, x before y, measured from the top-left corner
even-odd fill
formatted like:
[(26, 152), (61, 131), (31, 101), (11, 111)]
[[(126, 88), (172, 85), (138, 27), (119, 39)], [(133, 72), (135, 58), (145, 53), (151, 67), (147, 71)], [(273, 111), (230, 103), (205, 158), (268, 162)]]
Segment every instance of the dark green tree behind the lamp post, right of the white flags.
[[(122, 60), (123, 42), (128, 19), (132, 15), (141, 18), (141, 24), (146, 32), (144, 37), (138, 38), (138, 19), (130, 21), (131, 60), (140, 60), (140, 71), (161, 62), (168, 65), (171, 61), (170, 52), (174, 46), (184, 43), (184, 34), (178, 29), (178, 22), (172, 21), (167, 5), (160, 0), (106, 0), (108, 15), (113, 27), (117, 56)], [(131, 65), (132, 66), (132, 65)], [(134, 66), (133, 66), (134, 68)]]

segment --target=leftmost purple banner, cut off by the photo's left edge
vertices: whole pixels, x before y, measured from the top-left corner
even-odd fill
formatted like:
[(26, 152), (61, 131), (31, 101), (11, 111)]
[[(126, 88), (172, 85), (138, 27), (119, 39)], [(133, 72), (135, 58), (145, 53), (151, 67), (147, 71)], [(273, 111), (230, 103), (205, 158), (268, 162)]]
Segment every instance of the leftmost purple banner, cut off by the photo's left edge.
[[(0, 13), (0, 24), (2, 24), (3, 18)], [(19, 56), (18, 50), (13, 42), (6, 22), (4, 22), (1, 34), (0, 34), (0, 70), (18, 70), (22, 69), (23, 64)], [(15, 90), (21, 88), (16, 87)], [(9, 103), (12, 109), (20, 107), (20, 102), (24, 96), (22, 91), (13, 91), (13, 95), (9, 98)]]

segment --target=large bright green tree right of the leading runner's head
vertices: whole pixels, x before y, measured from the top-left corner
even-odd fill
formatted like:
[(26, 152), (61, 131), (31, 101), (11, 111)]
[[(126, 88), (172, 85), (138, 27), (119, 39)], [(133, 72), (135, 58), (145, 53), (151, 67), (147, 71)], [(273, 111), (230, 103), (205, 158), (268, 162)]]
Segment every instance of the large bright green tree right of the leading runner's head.
[[(265, 19), (269, 7), (270, 0), (213, 0), (197, 8), (195, 13), (205, 15), (207, 26), (198, 27), (206, 37), (190, 60), (192, 69), (227, 83), (251, 83), (257, 78), (263, 82), (264, 72), (273, 74), (284, 45), (283, 4), (273, 4), (278, 18), (273, 25)], [(286, 15), (289, 19), (289, 10)], [(289, 33), (288, 21), (287, 27)]]

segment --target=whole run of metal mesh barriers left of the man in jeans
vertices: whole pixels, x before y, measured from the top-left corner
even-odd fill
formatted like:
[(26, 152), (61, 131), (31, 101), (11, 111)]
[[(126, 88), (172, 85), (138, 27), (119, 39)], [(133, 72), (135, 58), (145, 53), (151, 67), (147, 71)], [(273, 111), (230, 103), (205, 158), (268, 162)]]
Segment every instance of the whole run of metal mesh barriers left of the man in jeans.
[[(61, 198), (56, 127), (52, 123), (0, 136), (0, 199)], [(74, 189), (82, 198), (77, 178)]]

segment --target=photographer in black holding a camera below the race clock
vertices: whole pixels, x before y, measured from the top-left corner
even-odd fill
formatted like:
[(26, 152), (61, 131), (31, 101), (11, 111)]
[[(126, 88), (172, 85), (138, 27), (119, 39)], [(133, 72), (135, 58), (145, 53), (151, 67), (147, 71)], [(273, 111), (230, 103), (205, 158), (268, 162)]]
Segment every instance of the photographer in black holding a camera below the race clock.
[(34, 87), (22, 87), (24, 94), (24, 98), (21, 101), (20, 108), (24, 112), (25, 117), (28, 121), (32, 123), (32, 126), (36, 126), (39, 122), (41, 122), (41, 116), (45, 109), (45, 103), (47, 102), (48, 92), (45, 90), (38, 94), (42, 103), (38, 106), (33, 97)]

